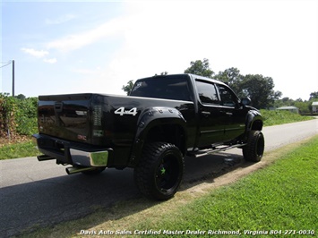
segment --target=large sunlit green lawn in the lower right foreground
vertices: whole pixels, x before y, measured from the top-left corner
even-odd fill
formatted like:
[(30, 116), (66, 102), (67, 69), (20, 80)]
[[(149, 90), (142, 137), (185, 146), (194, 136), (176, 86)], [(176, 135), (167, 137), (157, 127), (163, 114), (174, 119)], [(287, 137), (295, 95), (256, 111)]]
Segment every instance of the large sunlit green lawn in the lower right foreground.
[(315, 137), (272, 166), (212, 191), (155, 223), (145, 221), (131, 229), (282, 231), (278, 236), (286, 230), (315, 229), (317, 235), (317, 155)]

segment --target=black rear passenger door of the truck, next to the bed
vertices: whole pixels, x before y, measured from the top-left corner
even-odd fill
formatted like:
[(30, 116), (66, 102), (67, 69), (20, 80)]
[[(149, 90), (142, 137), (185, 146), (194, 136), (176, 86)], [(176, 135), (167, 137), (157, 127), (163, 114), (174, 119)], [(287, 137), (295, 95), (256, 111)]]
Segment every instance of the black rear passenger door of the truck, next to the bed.
[(199, 140), (198, 148), (224, 140), (225, 121), (220, 111), (220, 100), (215, 84), (211, 81), (195, 81), (198, 93)]

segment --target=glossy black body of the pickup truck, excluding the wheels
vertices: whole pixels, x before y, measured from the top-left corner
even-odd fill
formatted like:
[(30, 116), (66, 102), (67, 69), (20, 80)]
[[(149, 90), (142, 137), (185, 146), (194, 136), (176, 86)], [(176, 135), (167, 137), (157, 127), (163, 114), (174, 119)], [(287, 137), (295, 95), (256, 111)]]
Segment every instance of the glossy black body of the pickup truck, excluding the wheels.
[(107, 149), (107, 167), (116, 168), (136, 166), (145, 143), (170, 142), (185, 156), (242, 143), (249, 131), (262, 130), (258, 110), (243, 105), (224, 83), (193, 74), (141, 79), (130, 96), (39, 96), (38, 119), (39, 150), (59, 164), (73, 164), (72, 148)]

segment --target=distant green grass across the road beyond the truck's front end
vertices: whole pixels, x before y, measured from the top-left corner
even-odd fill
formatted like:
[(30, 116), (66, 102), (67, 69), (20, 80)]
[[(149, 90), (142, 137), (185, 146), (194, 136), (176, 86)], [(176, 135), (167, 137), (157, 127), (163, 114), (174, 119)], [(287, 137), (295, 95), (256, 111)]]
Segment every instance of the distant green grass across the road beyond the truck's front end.
[(283, 110), (261, 110), (264, 126), (284, 123), (297, 123), (313, 119), (313, 116), (303, 116)]

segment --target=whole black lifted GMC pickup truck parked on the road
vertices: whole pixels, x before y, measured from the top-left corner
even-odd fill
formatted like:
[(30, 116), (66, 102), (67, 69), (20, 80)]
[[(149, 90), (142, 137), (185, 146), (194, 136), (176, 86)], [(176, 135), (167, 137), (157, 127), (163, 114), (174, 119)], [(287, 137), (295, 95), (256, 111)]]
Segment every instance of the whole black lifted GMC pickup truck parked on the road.
[[(135, 82), (129, 96), (95, 93), (39, 96), (39, 161), (72, 165), (67, 174), (134, 168), (146, 197), (168, 200), (178, 190), (184, 157), (243, 149), (258, 162), (262, 115), (226, 84), (193, 74)], [(200, 160), (198, 160), (200, 163)]]

